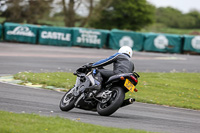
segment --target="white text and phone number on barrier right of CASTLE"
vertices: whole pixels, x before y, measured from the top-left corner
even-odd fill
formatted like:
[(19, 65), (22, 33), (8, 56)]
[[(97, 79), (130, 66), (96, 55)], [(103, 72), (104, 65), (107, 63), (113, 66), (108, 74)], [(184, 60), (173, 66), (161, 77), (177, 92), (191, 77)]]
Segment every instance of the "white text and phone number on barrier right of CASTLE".
[(79, 33), (81, 36), (77, 37), (77, 43), (101, 44), (101, 39), (98, 38), (101, 32), (80, 29)]

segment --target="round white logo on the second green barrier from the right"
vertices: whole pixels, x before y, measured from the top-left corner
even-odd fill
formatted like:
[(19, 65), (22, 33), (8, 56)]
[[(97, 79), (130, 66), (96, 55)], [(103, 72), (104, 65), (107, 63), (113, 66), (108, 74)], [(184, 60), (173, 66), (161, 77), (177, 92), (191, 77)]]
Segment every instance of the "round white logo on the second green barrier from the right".
[(158, 49), (165, 49), (168, 43), (169, 41), (164, 35), (159, 35), (154, 39), (154, 45)]

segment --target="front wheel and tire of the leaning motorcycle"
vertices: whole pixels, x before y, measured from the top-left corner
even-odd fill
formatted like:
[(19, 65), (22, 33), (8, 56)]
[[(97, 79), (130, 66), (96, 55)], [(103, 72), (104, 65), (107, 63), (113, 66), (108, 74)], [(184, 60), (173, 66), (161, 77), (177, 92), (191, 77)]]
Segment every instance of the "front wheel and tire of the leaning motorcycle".
[(72, 91), (73, 88), (66, 92), (62, 97), (60, 101), (60, 109), (62, 111), (69, 111), (75, 107), (74, 103), (76, 102), (77, 98), (73, 96)]

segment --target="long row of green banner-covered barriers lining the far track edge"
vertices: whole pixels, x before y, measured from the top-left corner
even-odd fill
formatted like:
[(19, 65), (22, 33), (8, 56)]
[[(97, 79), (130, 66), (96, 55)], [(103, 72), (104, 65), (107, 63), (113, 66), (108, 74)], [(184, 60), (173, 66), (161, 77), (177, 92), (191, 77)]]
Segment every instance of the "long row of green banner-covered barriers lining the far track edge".
[(4, 41), (54, 46), (82, 46), (119, 49), (130, 46), (136, 51), (163, 53), (200, 53), (200, 36), (139, 33), (122, 30), (100, 30), (4, 23), (0, 25)]

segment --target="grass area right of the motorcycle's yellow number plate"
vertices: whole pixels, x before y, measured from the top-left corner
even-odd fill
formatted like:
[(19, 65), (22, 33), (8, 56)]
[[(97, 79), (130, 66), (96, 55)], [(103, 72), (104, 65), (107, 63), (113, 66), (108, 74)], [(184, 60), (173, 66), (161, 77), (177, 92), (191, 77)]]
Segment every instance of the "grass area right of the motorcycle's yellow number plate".
[(200, 73), (140, 73), (137, 101), (200, 110)]

